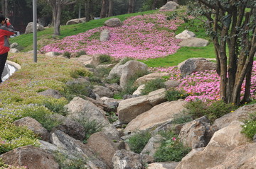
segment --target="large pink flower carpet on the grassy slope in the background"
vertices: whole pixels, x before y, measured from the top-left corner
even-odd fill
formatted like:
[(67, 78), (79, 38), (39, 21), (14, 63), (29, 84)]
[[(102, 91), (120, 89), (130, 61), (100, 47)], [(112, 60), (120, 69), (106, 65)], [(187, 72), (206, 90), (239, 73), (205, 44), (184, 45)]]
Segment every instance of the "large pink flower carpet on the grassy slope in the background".
[[(87, 54), (108, 54), (114, 58), (132, 57), (149, 59), (174, 54), (178, 42), (174, 30), (182, 20), (167, 20), (164, 13), (133, 16), (117, 28), (101, 27), (85, 33), (64, 37), (63, 40), (46, 45), (42, 52), (80, 52)], [(110, 30), (110, 40), (100, 42), (102, 30)]]

